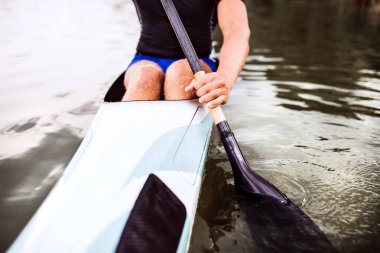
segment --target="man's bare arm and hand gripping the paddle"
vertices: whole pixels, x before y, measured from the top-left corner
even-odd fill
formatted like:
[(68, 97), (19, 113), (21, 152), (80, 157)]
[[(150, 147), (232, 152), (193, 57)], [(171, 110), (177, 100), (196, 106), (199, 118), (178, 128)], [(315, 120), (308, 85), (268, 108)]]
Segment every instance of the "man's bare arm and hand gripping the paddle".
[(199, 78), (185, 89), (195, 89), (199, 101), (207, 103), (209, 108), (228, 101), (249, 53), (250, 30), (245, 4), (241, 0), (222, 0), (218, 5), (218, 21), (223, 34), (218, 70)]

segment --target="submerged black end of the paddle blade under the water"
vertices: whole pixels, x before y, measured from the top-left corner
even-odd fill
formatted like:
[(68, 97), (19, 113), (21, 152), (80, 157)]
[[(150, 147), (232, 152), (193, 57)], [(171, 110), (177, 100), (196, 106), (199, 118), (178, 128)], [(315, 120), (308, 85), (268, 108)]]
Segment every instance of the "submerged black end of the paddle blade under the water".
[(258, 252), (337, 252), (325, 234), (291, 201), (245, 193), (238, 204)]

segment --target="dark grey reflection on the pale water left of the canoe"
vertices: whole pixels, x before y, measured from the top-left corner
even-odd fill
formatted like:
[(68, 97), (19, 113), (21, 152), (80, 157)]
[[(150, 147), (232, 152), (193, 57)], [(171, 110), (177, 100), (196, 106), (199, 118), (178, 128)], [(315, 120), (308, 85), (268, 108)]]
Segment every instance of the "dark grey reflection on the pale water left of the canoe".
[(24, 154), (0, 160), (0, 251), (29, 221), (80, 142), (76, 133), (62, 129), (47, 134)]

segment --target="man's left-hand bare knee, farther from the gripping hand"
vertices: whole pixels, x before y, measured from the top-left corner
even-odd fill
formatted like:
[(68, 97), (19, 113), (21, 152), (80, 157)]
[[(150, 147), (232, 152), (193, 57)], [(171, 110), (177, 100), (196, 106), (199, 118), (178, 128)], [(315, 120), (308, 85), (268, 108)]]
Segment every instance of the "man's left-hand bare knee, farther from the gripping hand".
[(127, 89), (123, 101), (159, 100), (164, 84), (164, 72), (154, 62), (139, 61), (125, 73), (124, 85)]

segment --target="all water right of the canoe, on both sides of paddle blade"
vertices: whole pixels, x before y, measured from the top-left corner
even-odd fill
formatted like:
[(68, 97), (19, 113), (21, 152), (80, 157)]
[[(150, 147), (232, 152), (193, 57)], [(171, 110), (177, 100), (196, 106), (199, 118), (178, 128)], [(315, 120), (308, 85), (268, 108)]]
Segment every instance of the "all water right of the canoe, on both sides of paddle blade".
[[(344, 1), (247, 5), (251, 54), (225, 107), (243, 152), (340, 252), (379, 252), (380, 13)], [(190, 252), (257, 252), (217, 135)]]

